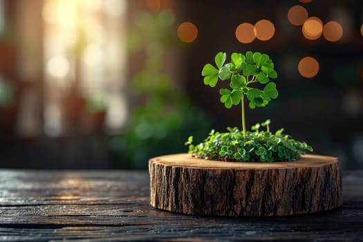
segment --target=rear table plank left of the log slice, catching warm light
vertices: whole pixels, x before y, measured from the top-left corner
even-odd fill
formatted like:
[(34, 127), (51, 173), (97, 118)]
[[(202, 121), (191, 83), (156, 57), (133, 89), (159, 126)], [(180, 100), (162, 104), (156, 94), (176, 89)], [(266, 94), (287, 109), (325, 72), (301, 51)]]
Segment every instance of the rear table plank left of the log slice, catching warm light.
[(1, 171), (0, 206), (145, 201), (148, 186), (140, 171)]

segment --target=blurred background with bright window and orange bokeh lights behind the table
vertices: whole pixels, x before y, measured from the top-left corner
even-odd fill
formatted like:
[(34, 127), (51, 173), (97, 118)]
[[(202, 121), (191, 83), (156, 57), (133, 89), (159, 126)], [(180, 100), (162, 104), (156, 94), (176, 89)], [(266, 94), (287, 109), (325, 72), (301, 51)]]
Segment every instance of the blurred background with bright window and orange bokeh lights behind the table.
[[(201, 69), (268, 53), (279, 98), (247, 110), (363, 168), (363, 1), (0, 0), (0, 168), (147, 169), (240, 126)], [(223, 84), (218, 84), (222, 87)]]

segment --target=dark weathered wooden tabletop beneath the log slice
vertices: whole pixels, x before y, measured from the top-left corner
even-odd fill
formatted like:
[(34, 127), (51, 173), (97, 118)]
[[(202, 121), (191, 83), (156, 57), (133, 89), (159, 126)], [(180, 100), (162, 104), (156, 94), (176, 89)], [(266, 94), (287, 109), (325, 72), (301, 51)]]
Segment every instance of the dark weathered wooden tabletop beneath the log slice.
[(0, 170), (0, 240), (363, 241), (363, 171), (343, 173), (343, 193), (317, 214), (186, 216), (149, 206), (147, 171)]

